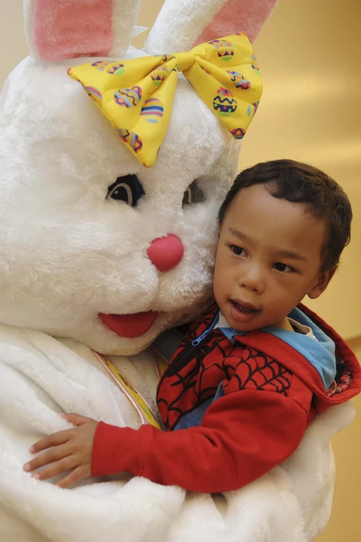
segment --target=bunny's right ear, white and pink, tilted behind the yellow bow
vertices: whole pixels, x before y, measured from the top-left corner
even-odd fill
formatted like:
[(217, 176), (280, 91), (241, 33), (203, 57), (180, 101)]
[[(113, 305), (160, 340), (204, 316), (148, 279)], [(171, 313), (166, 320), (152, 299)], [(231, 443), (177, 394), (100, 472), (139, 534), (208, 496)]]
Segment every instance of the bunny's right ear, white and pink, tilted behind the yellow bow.
[(188, 51), (211, 39), (244, 32), (252, 42), (277, 0), (165, 0), (145, 49), (151, 54)]

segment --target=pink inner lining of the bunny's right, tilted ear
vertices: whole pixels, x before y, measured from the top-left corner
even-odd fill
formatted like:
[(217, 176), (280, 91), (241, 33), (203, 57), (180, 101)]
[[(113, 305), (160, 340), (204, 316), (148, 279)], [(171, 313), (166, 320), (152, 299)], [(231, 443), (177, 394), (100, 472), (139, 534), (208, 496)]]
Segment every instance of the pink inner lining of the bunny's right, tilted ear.
[(276, 3), (277, 0), (228, 0), (203, 30), (196, 44), (237, 32), (246, 33), (250, 42), (253, 42)]

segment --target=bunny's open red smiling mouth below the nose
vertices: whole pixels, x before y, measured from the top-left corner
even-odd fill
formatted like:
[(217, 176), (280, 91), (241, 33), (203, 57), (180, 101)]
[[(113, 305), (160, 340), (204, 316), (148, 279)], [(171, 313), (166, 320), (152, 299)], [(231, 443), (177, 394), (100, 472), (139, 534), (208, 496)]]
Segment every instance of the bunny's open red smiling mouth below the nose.
[(158, 312), (137, 312), (136, 314), (104, 314), (99, 316), (102, 323), (120, 337), (135, 338), (145, 334), (158, 318)]

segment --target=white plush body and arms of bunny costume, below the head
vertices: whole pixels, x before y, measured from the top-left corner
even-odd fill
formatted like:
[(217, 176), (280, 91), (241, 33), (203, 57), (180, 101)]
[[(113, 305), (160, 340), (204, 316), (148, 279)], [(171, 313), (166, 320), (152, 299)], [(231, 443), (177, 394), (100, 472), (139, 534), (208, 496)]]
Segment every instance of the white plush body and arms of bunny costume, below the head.
[[(334, 481), (328, 443), (351, 422), (350, 404), (318, 417), (286, 464), (224, 498), (145, 478), (60, 489), (22, 471), (30, 444), (68, 426), (57, 413), (133, 428), (138, 415), (84, 344), (1, 326), (0, 352), (1, 541), (308, 542), (328, 520)], [(152, 404), (150, 354), (111, 361)]]

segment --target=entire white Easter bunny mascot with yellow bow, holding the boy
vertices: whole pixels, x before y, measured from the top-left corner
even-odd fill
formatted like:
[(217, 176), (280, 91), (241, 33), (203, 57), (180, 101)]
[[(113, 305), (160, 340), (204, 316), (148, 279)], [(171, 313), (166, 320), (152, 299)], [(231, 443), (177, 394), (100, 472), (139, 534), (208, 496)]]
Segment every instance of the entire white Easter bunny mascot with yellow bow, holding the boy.
[(242, 33), (252, 42), (274, 4), (165, 0), (136, 51), (140, 0), (25, 0), (30, 57), (0, 96), (1, 540), (301, 542), (326, 523), (347, 405), (223, 506), (144, 478), (63, 490), (22, 469), (68, 428), (60, 412), (138, 427), (93, 351), (151, 401), (146, 347), (210, 298), (216, 214), (261, 93)]

